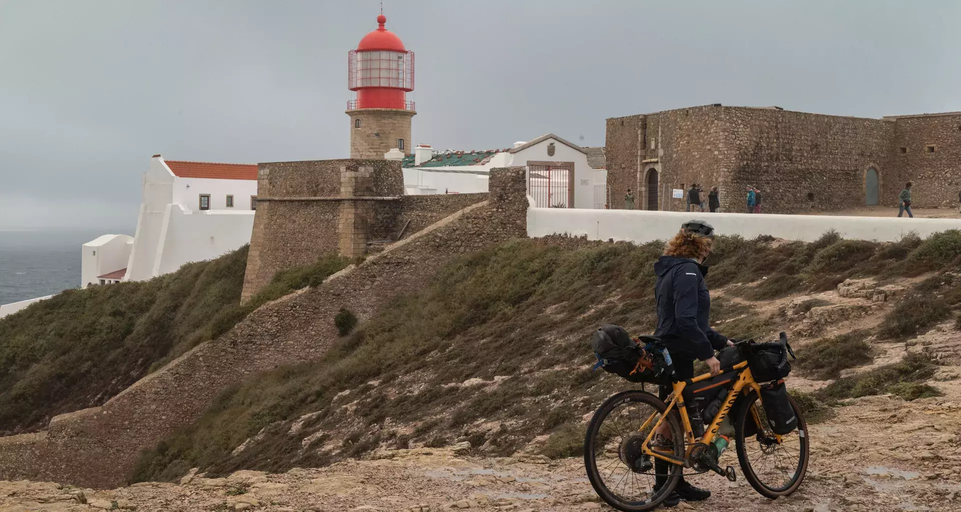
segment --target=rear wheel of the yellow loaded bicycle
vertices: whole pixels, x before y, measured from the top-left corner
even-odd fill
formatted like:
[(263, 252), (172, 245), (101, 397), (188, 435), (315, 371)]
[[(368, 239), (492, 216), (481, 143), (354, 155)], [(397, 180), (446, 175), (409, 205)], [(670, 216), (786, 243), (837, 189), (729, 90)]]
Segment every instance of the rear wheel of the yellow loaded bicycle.
[[(591, 418), (584, 437), (584, 468), (598, 496), (609, 505), (627, 512), (652, 510), (678, 485), (683, 467), (669, 466), (655, 475), (654, 459), (641, 452), (644, 441), (667, 405), (644, 391), (625, 391), (610, 397)], [(641, 430), (653, 415), (653, 420)], [(671, 439), (678, 440), (665, 451), (684, 456), (684, 436), (676, 413), (664, 421)], [(659, 476), (659, 478), (658, 478)], [(657, 480), (662, 485), (654, 489)]]

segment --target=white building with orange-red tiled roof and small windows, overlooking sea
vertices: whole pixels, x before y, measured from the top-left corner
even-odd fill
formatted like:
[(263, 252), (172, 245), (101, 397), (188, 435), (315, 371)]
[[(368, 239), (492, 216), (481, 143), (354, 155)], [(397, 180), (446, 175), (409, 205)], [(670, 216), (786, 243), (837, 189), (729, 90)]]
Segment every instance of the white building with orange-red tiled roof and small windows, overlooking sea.
[(143, 174), (143, 200), (123, 280), (149, 280), (250, 242), (257, 165), (164, 160)]

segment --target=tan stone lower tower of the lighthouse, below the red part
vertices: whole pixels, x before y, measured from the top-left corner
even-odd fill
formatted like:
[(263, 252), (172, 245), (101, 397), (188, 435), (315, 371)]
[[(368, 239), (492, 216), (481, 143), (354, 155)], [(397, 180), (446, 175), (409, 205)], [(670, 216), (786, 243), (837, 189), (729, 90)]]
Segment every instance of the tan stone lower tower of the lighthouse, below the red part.
[(383, 158), (384, 153), (399, 147), (400, 138), (404, 139), (402, 151), (410, 155), (410, 124), (416, 113), (394, 109), (347, 110), (351, 117), (351, 158)]

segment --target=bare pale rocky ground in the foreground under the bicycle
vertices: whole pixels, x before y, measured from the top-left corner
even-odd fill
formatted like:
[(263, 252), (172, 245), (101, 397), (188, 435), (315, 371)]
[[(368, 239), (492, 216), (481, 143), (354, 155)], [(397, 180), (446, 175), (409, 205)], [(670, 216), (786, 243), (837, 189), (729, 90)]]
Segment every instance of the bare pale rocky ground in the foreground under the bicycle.
[[(828, 512), (961, 510), (961, 367), (933, 381), (944, 397), (902, 402), (881, 396), (851, 401), (809, 428), (811, 465), (801, 489), (766, 500), (747, 481), (716, 475), (694, 481), (714, 492), (682, 509)], [(728, 464), (736, 457), (728, 451)], [(722, 465), (723, 465), (722, 464)], [(738, 470), (740, 475), (740, 470)], [(241, 471), (226, 478), (187, 475), (180, 484), (139, 483), (111, 491), (54, 483), (0, 482), (0, 512), (263, 510), (574, 511), (609, 509), (598, 502), (577, 458), (540, 455), (476, 458), (464, 447), (382, 451), (323, 469), (270, 475)]]

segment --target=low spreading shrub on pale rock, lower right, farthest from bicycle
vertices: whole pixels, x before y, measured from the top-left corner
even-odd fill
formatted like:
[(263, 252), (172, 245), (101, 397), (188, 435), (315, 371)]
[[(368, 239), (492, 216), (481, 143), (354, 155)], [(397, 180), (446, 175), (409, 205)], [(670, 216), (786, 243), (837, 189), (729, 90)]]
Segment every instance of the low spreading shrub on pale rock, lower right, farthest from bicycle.
[[(887, 364), (846, 378), (838, 378), (818, 390), (816, 396), (826, 400), (840, 400), (884, 393), (901, 393), (907, 397), (921, 398), (937, 393), (933, 388), (903, 386), (901, 383), (920, 383), (934, 375), (935, 367), (924, 354), (907, 354), (903, 360)], [(901, 395), (899, 395), (901, 396)], [(914, 400), (905, 398), (905, 400)]]

